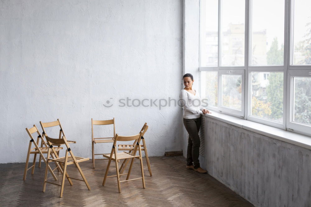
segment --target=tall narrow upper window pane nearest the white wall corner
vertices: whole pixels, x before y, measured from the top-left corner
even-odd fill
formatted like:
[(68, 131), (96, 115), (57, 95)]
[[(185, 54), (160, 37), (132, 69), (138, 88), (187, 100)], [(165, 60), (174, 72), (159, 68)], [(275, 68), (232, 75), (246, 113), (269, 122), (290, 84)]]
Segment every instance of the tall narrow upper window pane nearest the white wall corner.
[(201, 1), (201, 66), (218, 65), (218, 0)]

